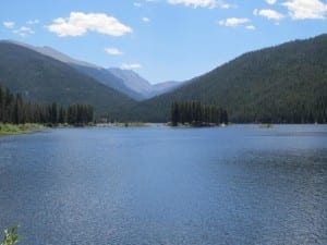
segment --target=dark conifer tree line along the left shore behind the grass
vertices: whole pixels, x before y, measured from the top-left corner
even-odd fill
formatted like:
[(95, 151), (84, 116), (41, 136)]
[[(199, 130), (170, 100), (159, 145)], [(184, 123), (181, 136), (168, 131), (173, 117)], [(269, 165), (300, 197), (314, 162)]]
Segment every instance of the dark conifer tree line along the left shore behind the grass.
[(12, 94), (0, 86), (0, 122), (12, 124), (43, 123), (56, 125), (85, 125), (93, 122), (94, 110), (89, 105), (70, 105), (68, 107), (24, 101), (20, 93)]

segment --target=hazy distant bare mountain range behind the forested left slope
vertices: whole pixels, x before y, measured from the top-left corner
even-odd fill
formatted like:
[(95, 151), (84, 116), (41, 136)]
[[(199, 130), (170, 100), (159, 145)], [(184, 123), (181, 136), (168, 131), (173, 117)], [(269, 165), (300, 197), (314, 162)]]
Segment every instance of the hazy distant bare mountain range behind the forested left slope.
[(9, 41), (37, 51), (41, 54), (51, 57), (63, 63), (66, 63), (80, 72), (97, 79), (101, 84), (114, 88), (135, 100), (144, 100), (150, 97), (161, 95), (178, 87), (181, 83), (167, 82), (152, 85), (148, 81), (141, 77), (132, 70), (121, 70), (117, 68), (104, 69), (93, 63), (76, 60), (51, 47), (35, 47), (19, 41)]

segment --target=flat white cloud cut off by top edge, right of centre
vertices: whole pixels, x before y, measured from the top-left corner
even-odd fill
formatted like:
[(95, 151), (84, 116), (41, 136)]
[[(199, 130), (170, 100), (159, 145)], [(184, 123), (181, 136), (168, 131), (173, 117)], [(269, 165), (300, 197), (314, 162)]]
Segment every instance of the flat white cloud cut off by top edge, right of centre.
[(230, 9), (234, 5), (226, 3), (223, 0), (167, 0), (169, 4), (184, 4), (186, 7), (208, 8), (214, 9), (219, 7), (221, 9)]

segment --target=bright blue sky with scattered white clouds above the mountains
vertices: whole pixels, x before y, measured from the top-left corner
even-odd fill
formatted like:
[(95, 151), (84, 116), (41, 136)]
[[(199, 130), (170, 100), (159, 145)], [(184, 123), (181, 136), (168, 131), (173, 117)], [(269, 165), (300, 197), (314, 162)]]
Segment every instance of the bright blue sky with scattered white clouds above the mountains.
[(0, 39), (50, 46), (150, 83), (327, 33), (325, 0), (0, 0)]

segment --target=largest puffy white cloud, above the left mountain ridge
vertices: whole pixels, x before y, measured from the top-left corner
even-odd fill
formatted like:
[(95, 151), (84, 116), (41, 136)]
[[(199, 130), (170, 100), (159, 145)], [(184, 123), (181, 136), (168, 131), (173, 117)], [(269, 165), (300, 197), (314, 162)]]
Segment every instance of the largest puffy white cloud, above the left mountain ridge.
[(132, 33), (132, 28), (120, 23), (116, 17), (104, 13), (71, 12), (69, 17), (58, 17), (47, 28), (59, 37), (82, 36), (96, 32), (109, 36), (122, 36)]

